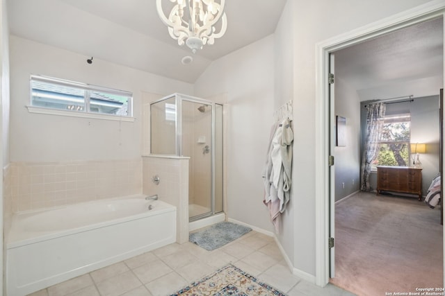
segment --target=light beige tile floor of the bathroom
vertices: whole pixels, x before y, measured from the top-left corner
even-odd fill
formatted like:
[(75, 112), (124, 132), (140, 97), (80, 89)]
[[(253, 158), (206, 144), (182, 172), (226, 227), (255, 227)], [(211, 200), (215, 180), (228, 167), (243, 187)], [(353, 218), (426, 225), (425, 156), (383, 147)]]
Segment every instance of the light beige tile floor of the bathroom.
[(211, 252), (193, 243), (173, 243), (32, 296), (164, 296), (232, 263), (289, 296), (353, 296), (328, 284), (319, 288), (291, 274), (270, 236), (249, 232)]

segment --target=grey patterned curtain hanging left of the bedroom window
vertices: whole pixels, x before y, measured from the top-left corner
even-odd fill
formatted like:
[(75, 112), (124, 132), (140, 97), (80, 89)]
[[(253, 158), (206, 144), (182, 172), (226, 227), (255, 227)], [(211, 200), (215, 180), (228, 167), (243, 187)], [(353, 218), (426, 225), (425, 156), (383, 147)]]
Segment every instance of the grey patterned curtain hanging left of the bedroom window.
[(372, 191), (369, 184), (369, 174), (371, 173), (371, 164), (375, 157), (378, 156), (378, 141), (382, 130), (382, 121), (385, 116), (385, 103), (373, 103), (366, 106), (368, 113), (366, 116), (366, 142), (362, 156), (362, 169), (360, 175), (361, 186), (363, 191)]

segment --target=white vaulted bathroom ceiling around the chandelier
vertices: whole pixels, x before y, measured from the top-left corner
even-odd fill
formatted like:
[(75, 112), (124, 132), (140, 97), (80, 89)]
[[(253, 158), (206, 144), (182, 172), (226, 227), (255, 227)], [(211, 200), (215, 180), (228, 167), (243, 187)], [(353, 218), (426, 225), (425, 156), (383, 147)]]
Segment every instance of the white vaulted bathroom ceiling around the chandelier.
[(9, 0), (8, 17), (13, 35), (193, 83), (213, 60), (273, 34), (286, 0), (225, 3), (225, 35), (195, 55), (172, 40), (154, 0)]

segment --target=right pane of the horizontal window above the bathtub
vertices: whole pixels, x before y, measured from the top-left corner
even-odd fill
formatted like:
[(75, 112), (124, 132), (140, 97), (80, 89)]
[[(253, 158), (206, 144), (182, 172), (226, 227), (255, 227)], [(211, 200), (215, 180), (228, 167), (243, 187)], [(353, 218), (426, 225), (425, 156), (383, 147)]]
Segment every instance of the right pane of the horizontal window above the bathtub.
[(90, 92), (90, 112), (128, 116), (129, 99), (106, 92)]

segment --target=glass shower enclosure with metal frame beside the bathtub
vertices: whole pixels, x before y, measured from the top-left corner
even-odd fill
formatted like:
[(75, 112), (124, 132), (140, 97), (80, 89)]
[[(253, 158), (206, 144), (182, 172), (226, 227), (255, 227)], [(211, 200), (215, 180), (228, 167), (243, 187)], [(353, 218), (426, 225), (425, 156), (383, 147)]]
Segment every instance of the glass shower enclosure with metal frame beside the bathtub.
[(223, 105), (172, 94), (150, 104), (150, 149), (154, 155), (190, 157), (189, 220), (223, 209)]

